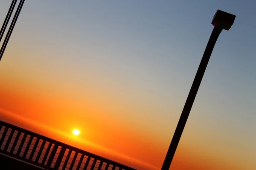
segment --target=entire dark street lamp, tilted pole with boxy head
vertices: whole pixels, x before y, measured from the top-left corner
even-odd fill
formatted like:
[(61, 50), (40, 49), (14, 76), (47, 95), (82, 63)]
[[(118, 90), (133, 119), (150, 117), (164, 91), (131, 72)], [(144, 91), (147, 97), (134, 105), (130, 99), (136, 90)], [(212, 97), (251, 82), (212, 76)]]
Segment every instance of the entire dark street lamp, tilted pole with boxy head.
[(229, 13), (221, 11), (221, 10), (218, 10), (213, 17), (212, 25), (214, 26), (214, 28), (212, 30), (212, 34), (211, 34), (209, 41), (207, 43), (207, 46), (205, 48), (204, 55), (201, 59), (200, 65), (198, 67), (198, 71), (195, 75), (195, 79), (190, 88), (189, 95), (186, 99), (186, 103), (185, 103), (183, 111), (180, 115), (179, 122), (177, 124), (175, 133), (172, 137), (172, 142), (167, 151), (166, 158), (163, 162), (163, 166), (162, 166), (161, 170), (169, 170), (169, 168), (171, 166), (172, 159), (174, 157), (175, 151), (179, 144), (180, 137), (181, 137), (184, 127), (186, 125), (186, 121), (189, 117), (189, 113), (190, 113), (192, 105), (195, 101), (195, 96), (198, 92), (198, 88), (203, 79), (204, 72), (207, 68), (207, 64), (211, 57), (212, 50), (213, 50), (214, 45), (218, 39), (218, 36), (221, 34), (222, 29), (225, 29), (225, 30), (230, 29), (230, 27), (233, 25), (233, 23), (235, 21), (235, 18), (236, 18), (235, 15), (229, 14)]

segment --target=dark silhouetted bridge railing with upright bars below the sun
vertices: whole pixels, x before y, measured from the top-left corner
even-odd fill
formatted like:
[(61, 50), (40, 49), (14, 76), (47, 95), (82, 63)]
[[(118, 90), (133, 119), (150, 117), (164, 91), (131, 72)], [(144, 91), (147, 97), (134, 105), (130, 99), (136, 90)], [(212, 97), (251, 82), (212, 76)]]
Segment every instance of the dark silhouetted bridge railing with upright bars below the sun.
[(0, 153), (45, 170), (135, 170), (3, 121)]

